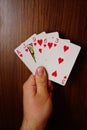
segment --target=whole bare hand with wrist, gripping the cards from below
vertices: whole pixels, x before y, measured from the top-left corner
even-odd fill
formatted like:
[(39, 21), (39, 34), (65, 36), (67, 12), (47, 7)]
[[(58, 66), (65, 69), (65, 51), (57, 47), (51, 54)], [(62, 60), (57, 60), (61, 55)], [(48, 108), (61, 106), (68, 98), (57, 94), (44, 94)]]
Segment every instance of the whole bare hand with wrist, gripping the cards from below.
[(21, 130), (43, 130), (52, 112), (51, 81), (43, 67), (23, 85), (24, 118)]

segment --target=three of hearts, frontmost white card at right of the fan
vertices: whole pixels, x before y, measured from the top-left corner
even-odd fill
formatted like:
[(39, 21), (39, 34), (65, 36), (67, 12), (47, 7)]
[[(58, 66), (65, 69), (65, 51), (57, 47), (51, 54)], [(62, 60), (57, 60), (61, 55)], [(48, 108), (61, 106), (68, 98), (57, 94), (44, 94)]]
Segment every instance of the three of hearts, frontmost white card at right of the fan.
[(60, 39), (58, 46), (45, 56), (44, 67), (50, 80), (65, 85), (81, 47)]

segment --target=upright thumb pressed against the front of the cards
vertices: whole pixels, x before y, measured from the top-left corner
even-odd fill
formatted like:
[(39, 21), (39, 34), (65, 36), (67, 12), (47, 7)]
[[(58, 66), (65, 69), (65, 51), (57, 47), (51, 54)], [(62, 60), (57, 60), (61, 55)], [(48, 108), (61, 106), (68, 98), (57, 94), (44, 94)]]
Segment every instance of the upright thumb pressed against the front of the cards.
[(43, 67), (38, 67), (35, 73), (36, 77), (36, 85), (37, 85), (37, 93), (41, 95), (48, 94), (47, 89), (47, 73)]

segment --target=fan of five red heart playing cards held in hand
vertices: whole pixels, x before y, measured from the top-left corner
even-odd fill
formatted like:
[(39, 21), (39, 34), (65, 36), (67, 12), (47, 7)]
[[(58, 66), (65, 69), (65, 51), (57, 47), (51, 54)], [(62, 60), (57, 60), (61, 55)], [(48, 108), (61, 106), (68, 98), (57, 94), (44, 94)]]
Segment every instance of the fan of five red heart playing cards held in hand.
[(65, 85), (81, 47), (58, 32), (33, 34), (14, 51), (34, 74), (38, 66), (44, 66), (49, 80)]

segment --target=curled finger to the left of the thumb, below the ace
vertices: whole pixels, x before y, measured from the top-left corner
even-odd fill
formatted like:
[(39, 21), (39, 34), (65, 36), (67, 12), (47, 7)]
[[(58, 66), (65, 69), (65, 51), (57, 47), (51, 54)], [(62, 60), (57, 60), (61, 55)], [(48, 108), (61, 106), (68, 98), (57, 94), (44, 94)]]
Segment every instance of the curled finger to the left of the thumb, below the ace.
[(34, 77), (33, 74), (24, 83), (23, 91), (24, 91), (24, 94), (26, 94), (27, 96), (35, 95), (35, 93), (36, 93), (36, 82), (35, 82), (35, 77)]

